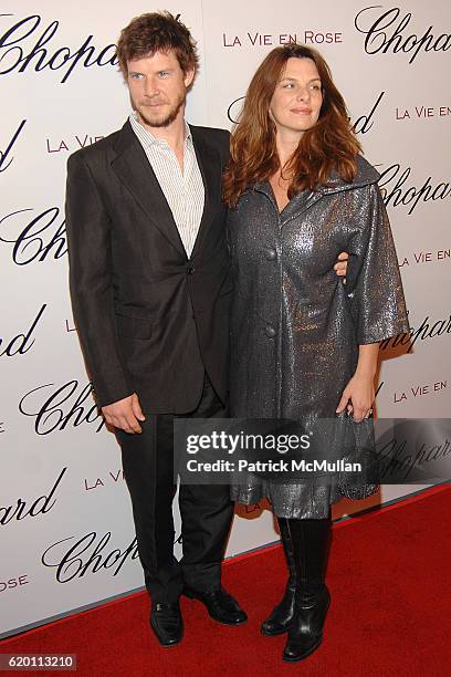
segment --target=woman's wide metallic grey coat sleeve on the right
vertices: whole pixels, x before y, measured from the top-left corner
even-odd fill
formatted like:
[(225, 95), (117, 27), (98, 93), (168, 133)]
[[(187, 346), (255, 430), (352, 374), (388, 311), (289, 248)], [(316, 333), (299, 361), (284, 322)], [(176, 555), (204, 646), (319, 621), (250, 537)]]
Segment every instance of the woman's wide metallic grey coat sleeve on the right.
[(377, 184), (364, 188), (365, 207), (349, 243), (347, 295), (359, 345), (409, 331), (394, 238)]

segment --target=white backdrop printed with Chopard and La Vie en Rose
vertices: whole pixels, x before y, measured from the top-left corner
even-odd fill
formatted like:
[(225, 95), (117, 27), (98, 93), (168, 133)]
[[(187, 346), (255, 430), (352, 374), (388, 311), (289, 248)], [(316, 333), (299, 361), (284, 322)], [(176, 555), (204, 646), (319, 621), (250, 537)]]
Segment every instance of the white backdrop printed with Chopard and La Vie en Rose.
[[(118, 32), (157, 9), (1, 2), (0, 637), (143, 585), (118, 447), (97, 416), (73, 327), (63, 206), (69, 155), (128, 114)], [(230, 128), (272, 46), (296, 39), (325, 55), (382, 175), (415, 337), (408, 353), (381, 350), (379, 416), (449, 417), (448, 1), (180, 0), (167, 9), (198, 40), (195, 124)], [(417, 489), (384, 487), (335, 515)], [(268, 510), (240, 509), (228, 555), (275, 538)]]

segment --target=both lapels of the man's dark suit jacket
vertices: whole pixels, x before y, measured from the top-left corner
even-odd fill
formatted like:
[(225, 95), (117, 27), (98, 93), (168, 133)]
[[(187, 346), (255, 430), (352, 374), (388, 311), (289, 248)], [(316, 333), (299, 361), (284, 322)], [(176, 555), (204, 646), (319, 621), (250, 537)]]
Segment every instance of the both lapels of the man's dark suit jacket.
[[(192, 126), (190, 131), (206, 191), (202, 218), (191, 254), (193, 259), (214, 216), (214, 206), (220, 200), (221, 163), (218, 154), (204, 140), (200, 131)], [(128, 121), (118, 132), (113, 147), (116, 153), (111, 162), (113, 170), (144, 209), (149, 220), (186, 259), (187, 253), (172, 212)]]

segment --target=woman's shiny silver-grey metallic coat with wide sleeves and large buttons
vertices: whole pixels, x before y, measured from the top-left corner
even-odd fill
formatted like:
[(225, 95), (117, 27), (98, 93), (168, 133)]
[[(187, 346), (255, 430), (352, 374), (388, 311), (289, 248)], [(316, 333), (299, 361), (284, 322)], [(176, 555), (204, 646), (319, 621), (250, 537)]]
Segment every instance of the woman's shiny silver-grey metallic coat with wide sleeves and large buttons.
[[(378, 178), (358, 157), (353, 184), (333, 176), (282, 212), (270, 184), (259, 184), (230, 210), (233, 417), (334, 419), (358, 345), (409, 330)], [(349, 253), (346, 285), (333, 269), (342, 251)], [(254, 503), (268, 497), (285, 518), (323, 518), (344, 493), (364, 498), (377, 488), (348, 493), (340, 481), (248, 480), (232, 486), (232, 498)]]

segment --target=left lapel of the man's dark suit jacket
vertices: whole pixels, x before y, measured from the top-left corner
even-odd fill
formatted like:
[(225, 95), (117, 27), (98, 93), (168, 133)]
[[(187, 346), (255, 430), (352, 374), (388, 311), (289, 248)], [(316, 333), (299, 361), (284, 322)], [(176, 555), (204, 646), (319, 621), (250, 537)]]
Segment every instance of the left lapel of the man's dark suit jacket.
[(144, 209), (149, 220), (186, 258), (185, 247), (165, 194), (128, 121), (122, 128), (114, 148), (117, 156), (112, 160), (113, 170)]

